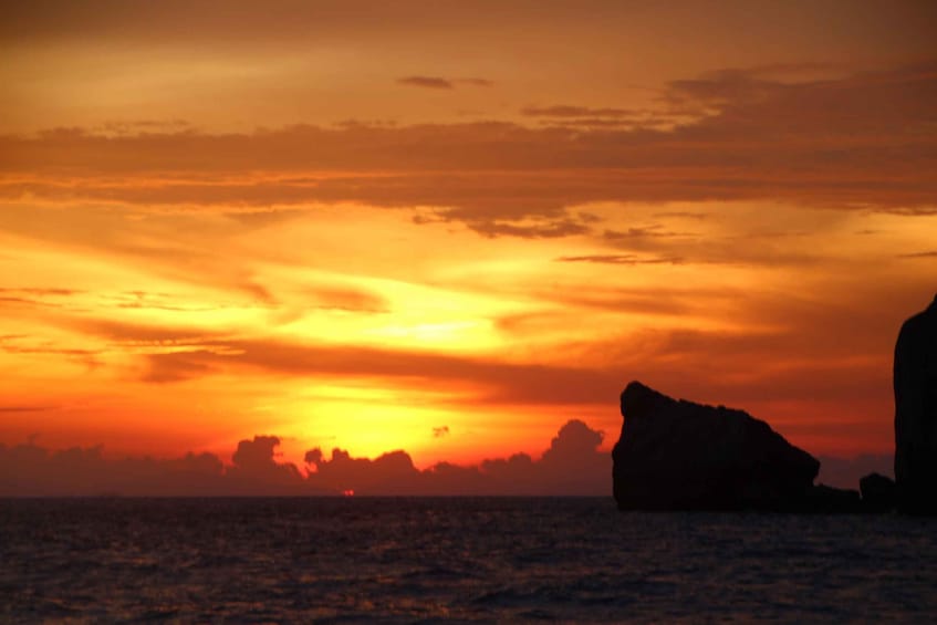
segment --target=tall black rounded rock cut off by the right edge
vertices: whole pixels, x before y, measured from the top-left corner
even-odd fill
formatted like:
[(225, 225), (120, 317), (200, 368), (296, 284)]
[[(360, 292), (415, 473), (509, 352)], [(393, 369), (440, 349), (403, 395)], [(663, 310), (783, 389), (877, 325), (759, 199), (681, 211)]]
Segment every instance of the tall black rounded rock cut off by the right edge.
[(894, 386), (898, 510), (937, 514), (937, 298), (902, 325)]

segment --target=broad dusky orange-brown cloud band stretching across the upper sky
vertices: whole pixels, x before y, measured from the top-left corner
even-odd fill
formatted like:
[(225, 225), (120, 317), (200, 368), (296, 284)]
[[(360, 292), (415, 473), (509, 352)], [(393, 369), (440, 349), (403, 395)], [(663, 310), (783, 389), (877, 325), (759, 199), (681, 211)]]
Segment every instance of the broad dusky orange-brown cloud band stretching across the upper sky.
[[(667, 87), (666, 110), (695, 116), (670, 129), (483, 122), (108, 137), (58, 128), (0, 137), (0, 197), (143, 210), (428, 206), (481, 233), (521, 237), (581, 233), (587, 223), (565, 210), (611, 200), (768, 198), (930, 210), (937, 194), (928, 175), (937, 164), (935, 76), (933, 60), (799, 83), (752, 71), (715, 72)], [(412, 79), (435, 88), (456, 84)], [(528, 110), (558, 117), (583, 112)], [(552, 222), (517, 223), (525, 218)]]

